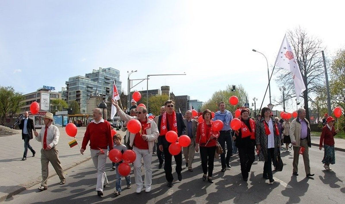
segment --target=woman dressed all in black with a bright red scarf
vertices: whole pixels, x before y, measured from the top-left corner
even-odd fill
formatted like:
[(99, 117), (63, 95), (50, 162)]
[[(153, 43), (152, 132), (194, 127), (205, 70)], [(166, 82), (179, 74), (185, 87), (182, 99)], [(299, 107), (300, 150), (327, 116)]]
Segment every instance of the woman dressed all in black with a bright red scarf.
[(249, 109), (241, 110), (242, 126), (236, 130), (236, 136), (233, 140), (236, 141), (238, 148), (239, 161), (241, 163), (241, 173), (244, 181), (248, 181), (250, 168), (255, 160), (255, 121), (249, 118)]

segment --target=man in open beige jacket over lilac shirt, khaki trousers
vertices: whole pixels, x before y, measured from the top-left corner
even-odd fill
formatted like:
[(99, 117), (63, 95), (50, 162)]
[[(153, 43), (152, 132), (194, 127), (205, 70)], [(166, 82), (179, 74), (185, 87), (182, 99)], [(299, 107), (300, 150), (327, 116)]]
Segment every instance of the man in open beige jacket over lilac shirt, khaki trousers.
[(291, 122), (289, 131), (291, 143), (294, 145), (293, 175), (298, 176), (299, 146), (301, 146), (305, 148), (303, 152), (305, 173), (307, 177), (311, 177), (314, 174), (310, 173), (309, 165), (309, 147), (311, 147), (310, 125), (305, 118), (306, 114), (303, 108), (299, 108), (297, 113), (298, 117)]

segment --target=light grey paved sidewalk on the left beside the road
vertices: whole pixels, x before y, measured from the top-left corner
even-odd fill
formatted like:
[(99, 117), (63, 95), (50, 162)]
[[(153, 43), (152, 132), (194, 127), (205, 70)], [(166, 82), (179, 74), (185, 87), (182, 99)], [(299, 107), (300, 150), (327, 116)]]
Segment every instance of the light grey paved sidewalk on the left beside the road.
[[(30, 140), (30, 145), (36, 151), (35, 157), (28, 150), (27, 160), (22, 161), (24, 151), (24, 141), (21, 139), (21, 130), (12, 136), (0, 137), (0, 202), (12, 195), (18, 194), (27, 188), (41, 182), (41, 142), (35, 139)], [(40, 130), (38, 130), (40, 131)], [(57, 145), (59, 151), (59, 159), (65, 174), (68, 169), (85, 162), (91, 158), (89, 146), (81, 155), (79, 147), (69, 147), (68, 142), (73, 140), (65, 132), (65, 128), (59, 128), (60, 138)], [(81, 147), (81, 142), (86, 131), (86, 127), (78, 128), (76, 140)], [(122, 138), (125, 132), (117, 131)], [(49, 177), (56, 175), (52, 165), (49, 163)], [(68, 180), (66, 181), (68, 183)], [(48, 180), (48, 186), (52, 185)]]

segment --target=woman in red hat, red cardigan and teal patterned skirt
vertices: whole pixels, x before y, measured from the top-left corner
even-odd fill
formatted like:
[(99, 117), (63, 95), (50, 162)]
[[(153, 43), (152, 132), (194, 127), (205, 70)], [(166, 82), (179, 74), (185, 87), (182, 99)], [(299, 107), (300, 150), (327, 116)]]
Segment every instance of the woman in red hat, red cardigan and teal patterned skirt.
[(334, 154), (334, 136), (339, 132), (339, 130), (334, 130), (334, 119), (329, 116), (326, 120), (326, 125), (322, 128), (322, 133), (320, 137), (319, 150), (322, 150), (322, 143), (324, 144), (324, 158), (322, 163), (325, 164), (324, 168), (327, 171), (332, 171), (329, 168), (329, 164), (335, 164), (335, 154)]

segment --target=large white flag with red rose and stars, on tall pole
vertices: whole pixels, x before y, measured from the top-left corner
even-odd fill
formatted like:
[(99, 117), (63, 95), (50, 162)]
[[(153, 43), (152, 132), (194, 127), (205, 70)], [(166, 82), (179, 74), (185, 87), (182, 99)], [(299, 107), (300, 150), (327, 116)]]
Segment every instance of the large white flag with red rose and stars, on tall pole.
[(294, 53), (292, 52), (289, 41), (287, 41), (286, 35), (284, 36), (282, 46), (280, 46), (275, 66), (292, 72), (292, 78), (294, 80), (296, 90), (296, 98), (298, 100), (299, 95), (305, 90), (305, 85), (296, 58), (294, 57)]

